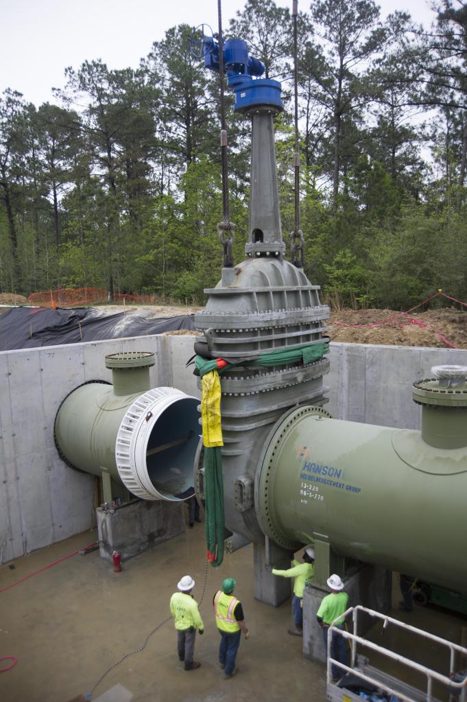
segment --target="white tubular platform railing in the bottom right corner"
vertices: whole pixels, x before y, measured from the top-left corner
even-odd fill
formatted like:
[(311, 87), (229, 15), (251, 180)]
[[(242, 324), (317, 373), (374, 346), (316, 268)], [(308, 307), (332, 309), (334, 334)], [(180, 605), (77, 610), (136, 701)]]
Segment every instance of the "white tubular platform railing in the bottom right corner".
[[(391, 651), (390, 649), (386, 649), (382, 646), (379, 646), (378, 644), (375, 644), (374, 642), (366, 639), (363, 636), (358, 636), (357, 634), (350, 633), (346, 630), (337, 628), (334, 623), (338, 621), (339, 619), (342, 618), (342, 616), (347, 617), (348, 615), (352, 614), (352, 620), (353, 620), (353, 631), (358, 632), (358, 614), (359, 613), (365, 613), (366, 615), (370, 615), (374, 617), (375, 619), (379, 619), (383, 621), (383, 628), (386, 628), (388, 624), (395, 625), (395, 627), (400, 628), (402, 630), (405, 630), (406, 632), (410, 632), (414, 635), (418, 635), (425, 640), (430, 640), (431, 642), (435, 644), (439, 644), (440, 647), (443, 649), (449, 649), (449, 654), (450, 654), (450, 660), (449, 660), (449, 676), (454, 676), (456, 673), (456, 670), (454, 670), (454, 665), (456, 662), (456, 654), (459, 654), (460, 656), (466, 656), (467, 657), (467, 649), (459, 646), (459, 644), (454, 644), (451, 641), (447, 641), (446, 639), (442, 639), (439, 636), (435, 636), (434, 634), (430, 634), (427, 631), (424, 631), (422, 629), (418, 629), (414, 626), (411, 626), (410, 624), (405, 624), (402, 621), (398, 621), (398, 619), (394, 619), (390, 616), (387, 616), (386, 614), (381, 614), (381, 612), (374, 611), (374, 609), (368, 609), (367, 607), (362, 607), (362, 605), (358, 604), (356, 607), (349, 607), (344, 615), (341, 615), (334, 619), (334, 622), (330, 625), (329, 629), (327, 630), (327, 683), (331, 683), (331, 666), (335, 666), (339, 668), (340, 670), (345, 670), (346, 673), (352, 673), (353, 675), (356, 675), (358, 678), (361, 678), (362, 680), (365, 680), (365, 682), (369, 682), (370, 684), (374, 685), (375, 687), (384, 690), (388, 695), (394, 695), (398, 699), (404, 701), (404, 702), (421, 702), (421, 700), (426, 702), (435, 702), (435, 698), (433, 697), (433, 682), (439, 682), (442, 684), (442, 686), (445, 686), (445, 689), (447, 691), (447, 695), (450, 696), (452, 700), (456, 700), (459, 702), (466, 702), (467, 700), (467, 677), (465, 677), (461, 682), (455, 682), (453, 680), (453, 677), (449, 677), (448, 675), (442, 675), (442, 673), (438, 673), (438, 671), (433, 670), (432, 668), (428, 668), (426, 665), (421, 665), (421, 663), (417, 663), (416, 661), (412, 661), (410, 658), (407, 658), (406, 656), (401, 656), (400, 654), (395, 653), (394, 651)], [(344, 663), (339, 663), (339, 661), (336, 661), (334, 658), (330, 657), (330, 643), (331, 643), (331, 637), (333, 633), (337, 633), (339, 636), (343, 636), (346, 640), (348, 640), (351, 644), (351, 665), (344, 665)], [(356, 667), (357, 663), (357, 644), (360, 644), (361, 646), (365, 647), (366, 649), (370, 649), (371, 651), (376, 651), (378, 654), (381, 654), (382, 656), (386, 656), (386, 658), (390, 658), (391, 661), (395, 661), (397, 663), (402, 663), (402, 665), (407, 665), (407, 668), (410, 668), (412, 670), (416, 670), (418, 673), (421, 673), (421, 675), (424, 675), (426, 677), (426, 692), (424, 693), (423, 691), (418, 691), (419, 694), (417, 695), (417, 689), (413, 688), (413, 693), (412, 691), (407, 692), (407, 690), (411, 690), (410, 686), (404, 685), (405, 691), (402, 689), (398, 689), (398, 687), (394, 686), (394, 682), (397, 682), (397, 680), (390, 675), (387, 676), (387, 681), (384, 682), (384, 680), (381, 680), (381, 678), (374, 677), (374, 675), (369, 675), (368, 673), (364, 673), (363, 670), (359, 669)], [(376, 670), (376, 669), (375, 669)], [(383, 671), (381, 671), (382, 677), (384, 677)], [(420, 692), (422, 693), (422, 696), (420, 695)]]

